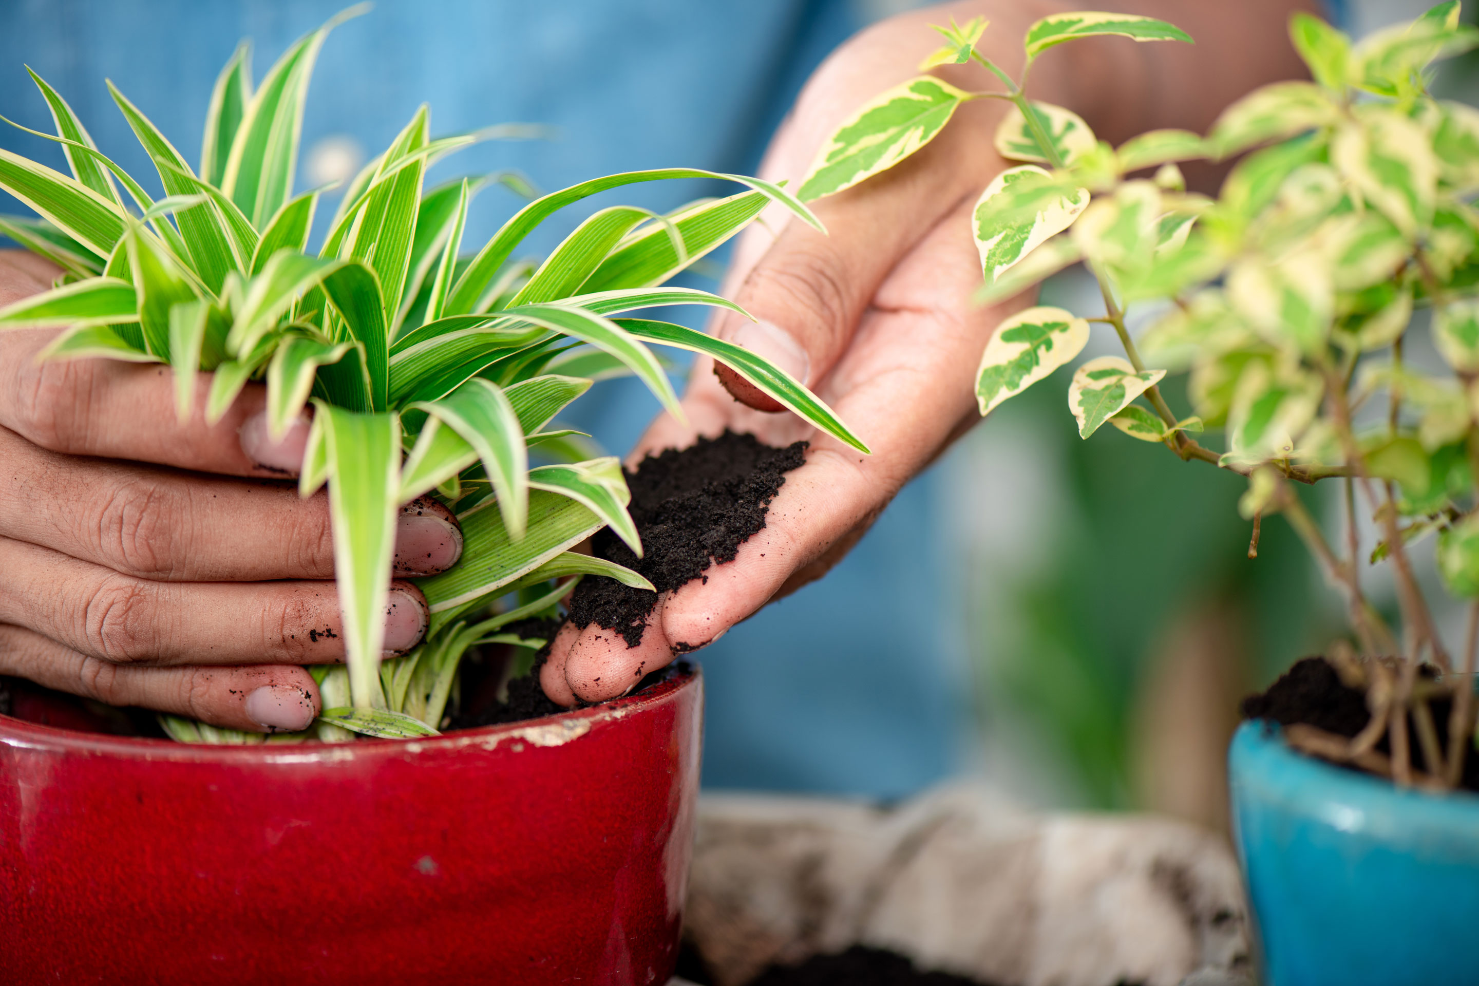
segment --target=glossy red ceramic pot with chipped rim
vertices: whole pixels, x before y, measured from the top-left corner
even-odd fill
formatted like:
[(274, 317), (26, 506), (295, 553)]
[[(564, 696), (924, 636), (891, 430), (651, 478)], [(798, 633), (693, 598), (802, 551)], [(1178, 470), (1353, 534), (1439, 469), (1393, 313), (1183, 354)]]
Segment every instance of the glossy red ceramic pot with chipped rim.
[(417, 742), (0, 715), (0, 983), (666, 983), (703, 681)]

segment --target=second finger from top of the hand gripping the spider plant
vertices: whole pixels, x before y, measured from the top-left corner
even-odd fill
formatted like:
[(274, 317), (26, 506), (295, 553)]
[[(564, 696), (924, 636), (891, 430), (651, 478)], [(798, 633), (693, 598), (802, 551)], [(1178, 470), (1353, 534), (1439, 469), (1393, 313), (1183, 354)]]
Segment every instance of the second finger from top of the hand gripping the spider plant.
[[(179, 581), (333, 578), (328, 498), (277, 482), (213, 479), (61, 455), (0, 429), (0, 537), (117, 572)], [(395, 574), (457, 563), (461, 531), (423, 497), (396, 520)]]

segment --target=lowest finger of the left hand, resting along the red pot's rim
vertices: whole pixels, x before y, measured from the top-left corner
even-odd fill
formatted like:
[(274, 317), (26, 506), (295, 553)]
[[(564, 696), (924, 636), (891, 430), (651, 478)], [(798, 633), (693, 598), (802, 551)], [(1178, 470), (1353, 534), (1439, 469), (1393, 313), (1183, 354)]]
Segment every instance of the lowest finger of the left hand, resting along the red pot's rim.
[(3, 624), (0, 674), (108, 705), (138, 705), (257, 733), (308, 729), (321, 708), (314, 676), (297, 665), (120, 667)]

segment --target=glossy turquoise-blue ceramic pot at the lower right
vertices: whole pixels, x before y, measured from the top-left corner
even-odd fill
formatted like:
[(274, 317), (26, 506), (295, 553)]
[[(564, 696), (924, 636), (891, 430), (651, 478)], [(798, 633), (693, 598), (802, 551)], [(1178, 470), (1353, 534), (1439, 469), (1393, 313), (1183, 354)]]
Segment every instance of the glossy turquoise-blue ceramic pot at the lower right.
[(1479, 795), (1399, 789), (1253, 721), (1229, 775), (1265, 986), (1479, 983)]

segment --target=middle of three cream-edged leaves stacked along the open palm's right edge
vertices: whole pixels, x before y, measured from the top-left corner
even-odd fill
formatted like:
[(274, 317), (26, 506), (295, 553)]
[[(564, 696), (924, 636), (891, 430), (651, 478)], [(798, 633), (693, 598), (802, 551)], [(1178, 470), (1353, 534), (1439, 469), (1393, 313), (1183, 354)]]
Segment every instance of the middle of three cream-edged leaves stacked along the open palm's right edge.
[(973, 232), (986, 285), (997, 282), (1089, 205), (1087, 188), (1071, 188), (1032, 164), (1001, 171), (976, 203)]

